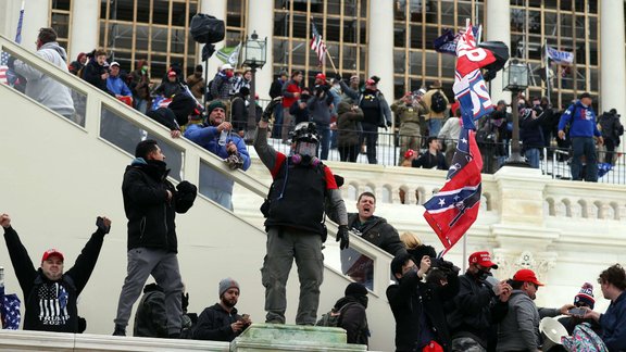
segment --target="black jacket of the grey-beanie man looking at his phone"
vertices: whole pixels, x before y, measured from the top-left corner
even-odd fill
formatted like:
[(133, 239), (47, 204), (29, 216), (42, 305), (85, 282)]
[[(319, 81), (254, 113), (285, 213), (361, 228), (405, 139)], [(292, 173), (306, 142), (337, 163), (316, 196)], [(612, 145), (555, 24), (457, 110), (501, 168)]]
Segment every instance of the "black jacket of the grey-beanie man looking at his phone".
[(190, 339), (211, 341), (233, 341), (240, 332), (233, 331), (230, 324), (241, 319), (237, 309), (226, 312), (220, 303), (206, 307), (198, 317), (198, 324), (191, 328)]

